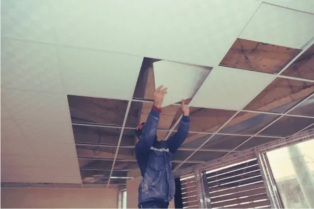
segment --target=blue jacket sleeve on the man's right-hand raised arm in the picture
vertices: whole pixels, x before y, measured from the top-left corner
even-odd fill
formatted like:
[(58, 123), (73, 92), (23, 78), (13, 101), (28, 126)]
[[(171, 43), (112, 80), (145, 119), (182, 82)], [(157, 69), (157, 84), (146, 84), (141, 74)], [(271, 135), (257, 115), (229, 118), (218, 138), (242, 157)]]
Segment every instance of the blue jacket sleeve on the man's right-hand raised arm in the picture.
[(179, 149), (186, 139), (189, 129), (190, 117), (183, 115), (178, 131), (166, 141), (170, 152), (175, 153)]

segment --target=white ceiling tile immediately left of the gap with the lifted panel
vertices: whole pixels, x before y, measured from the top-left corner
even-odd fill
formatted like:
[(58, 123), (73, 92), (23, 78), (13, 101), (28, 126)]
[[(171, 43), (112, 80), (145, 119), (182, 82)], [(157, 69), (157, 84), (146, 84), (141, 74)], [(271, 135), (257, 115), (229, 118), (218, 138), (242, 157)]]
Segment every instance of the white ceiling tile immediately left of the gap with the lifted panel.
[(67, 94), (131, 99), (143, 57), (64, 47), (58, 51)]

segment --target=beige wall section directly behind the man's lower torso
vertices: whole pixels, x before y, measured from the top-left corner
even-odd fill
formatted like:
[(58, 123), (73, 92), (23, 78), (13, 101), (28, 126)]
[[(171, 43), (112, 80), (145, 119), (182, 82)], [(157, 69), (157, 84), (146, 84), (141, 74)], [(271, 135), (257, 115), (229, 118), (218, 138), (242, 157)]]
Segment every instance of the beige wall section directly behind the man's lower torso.
[[(127, 208), (136, 209), (138, 205), (138, 186), (142, 181), (142, 177), (137, 177), (127, 181)], [(169, 209), (174, 209), (175, 203), (172, 200)]]

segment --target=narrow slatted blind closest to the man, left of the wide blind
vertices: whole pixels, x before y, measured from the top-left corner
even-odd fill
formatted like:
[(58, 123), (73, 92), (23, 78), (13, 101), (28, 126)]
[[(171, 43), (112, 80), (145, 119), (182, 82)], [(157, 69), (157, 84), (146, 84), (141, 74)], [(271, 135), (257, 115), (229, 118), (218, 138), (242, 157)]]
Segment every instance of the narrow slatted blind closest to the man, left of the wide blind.
[(182, 178), (180, 179), (180, 182), (183, 209), (199, 208), (194, 175)]

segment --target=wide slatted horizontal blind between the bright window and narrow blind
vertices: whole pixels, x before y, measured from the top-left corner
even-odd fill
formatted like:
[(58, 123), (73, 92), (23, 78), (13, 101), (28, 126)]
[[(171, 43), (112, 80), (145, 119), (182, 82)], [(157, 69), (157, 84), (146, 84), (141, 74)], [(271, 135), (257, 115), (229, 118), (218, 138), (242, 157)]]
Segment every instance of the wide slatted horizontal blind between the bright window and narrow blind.
[(270, 208), (256, 158), (206, 175), (211, 208)]

